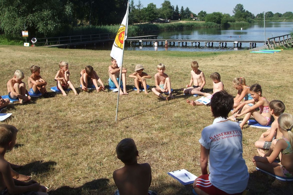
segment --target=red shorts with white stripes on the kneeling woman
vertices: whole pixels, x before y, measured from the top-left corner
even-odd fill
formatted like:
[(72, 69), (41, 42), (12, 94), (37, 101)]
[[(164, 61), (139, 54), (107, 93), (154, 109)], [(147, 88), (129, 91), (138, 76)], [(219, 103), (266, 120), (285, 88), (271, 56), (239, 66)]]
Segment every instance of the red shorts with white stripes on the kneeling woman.
[[(207, 194), (217, 194), (217, 195), (231, 195), (226, 192), (214, 187), (212, 183), (209, 181), (209, 175), (201, 175), (197, 178), (196, 187), (201, 189)], [(241, 195), (242, 193), (237, 193), (235, 195)]]

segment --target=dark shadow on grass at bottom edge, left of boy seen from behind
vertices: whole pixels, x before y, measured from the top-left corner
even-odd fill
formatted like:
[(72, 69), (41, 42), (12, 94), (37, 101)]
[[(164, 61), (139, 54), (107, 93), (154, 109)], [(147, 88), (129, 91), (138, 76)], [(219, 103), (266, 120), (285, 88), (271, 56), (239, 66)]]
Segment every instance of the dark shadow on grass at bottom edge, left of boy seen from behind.
[[(93, 180), (91, 182), (87, 182), (81, 187), (69, 187), (69, 186), (62, 186), (52, 191), (48, 191), (47, 193), (50, 195), (77, 195), (77, 194), (91, 194), (91, 195), (98, 195), (98, 194), (109, 194), (109, 179), (101, 178), (97, 180)], [(112, 193), (114, 194), (114, 192)]]

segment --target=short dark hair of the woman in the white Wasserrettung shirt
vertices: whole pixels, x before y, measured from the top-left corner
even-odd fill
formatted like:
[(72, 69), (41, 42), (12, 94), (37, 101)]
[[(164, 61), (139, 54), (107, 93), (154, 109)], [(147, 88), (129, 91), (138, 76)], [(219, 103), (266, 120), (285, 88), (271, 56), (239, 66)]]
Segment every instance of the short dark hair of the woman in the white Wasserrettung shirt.
[(211, 99), (212, 113), (214, 117), (227, 118), (229, 112), (233, 108), (233, 96), (228, 94), (225, 90), (214, 93)]

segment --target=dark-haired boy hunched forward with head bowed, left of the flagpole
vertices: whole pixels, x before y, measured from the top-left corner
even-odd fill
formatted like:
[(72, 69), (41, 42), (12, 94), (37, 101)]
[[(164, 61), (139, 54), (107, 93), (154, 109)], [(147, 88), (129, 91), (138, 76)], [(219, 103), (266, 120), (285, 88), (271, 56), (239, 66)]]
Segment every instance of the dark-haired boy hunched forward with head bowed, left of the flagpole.
[[(101, 84), (100, 87), (98, 87), (98, 82)], [(105, 89), (105, 86), (102, 80), (97, 75), (96, 71), (93, 70), (92, 66), (86, 66), (85, 69), (81, 70), (80, 84), (81, 84), (81, 90), (84, 90), (85, 92), (88, 91), (88, 88), (94, 88), (94, 87), (96, 88), (97, 92)]]

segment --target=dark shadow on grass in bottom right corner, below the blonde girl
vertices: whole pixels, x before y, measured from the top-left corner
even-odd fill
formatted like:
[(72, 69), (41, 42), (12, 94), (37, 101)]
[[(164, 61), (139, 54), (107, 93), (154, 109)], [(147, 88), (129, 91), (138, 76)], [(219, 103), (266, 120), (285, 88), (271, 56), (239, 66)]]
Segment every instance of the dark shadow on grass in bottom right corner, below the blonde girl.
[(258, 170), (249, 174), (248, 189), (253, 194), (291, 194), (293, 191), (293, 182), (282, 182), (274, 177), (260, 172)]

